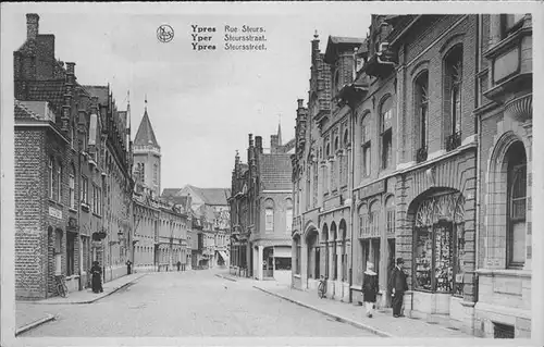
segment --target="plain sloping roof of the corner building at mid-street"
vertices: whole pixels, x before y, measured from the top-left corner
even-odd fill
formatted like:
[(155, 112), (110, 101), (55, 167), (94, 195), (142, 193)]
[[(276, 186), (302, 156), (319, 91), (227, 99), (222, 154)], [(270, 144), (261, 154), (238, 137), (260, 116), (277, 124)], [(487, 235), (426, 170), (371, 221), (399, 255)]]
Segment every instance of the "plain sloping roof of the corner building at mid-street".
[(293, 190), (290, 154), (261, 154), (259, 163), (264, 190)]

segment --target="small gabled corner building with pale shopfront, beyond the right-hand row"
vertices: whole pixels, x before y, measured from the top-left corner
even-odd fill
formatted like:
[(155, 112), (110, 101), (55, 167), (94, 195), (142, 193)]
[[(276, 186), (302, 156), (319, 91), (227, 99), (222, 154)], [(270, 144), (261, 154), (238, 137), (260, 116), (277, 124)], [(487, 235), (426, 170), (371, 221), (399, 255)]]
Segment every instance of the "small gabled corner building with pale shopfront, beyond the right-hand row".
[[(281, 127), (271, 136), (268, 152), (262, 138), (249, 135), (248, 163), (235, 157), (232, 177), (231, 245), (234, 271), (257, 280), (290, 281), (293, 185), (290, 151), (282, 144)], [(244, 273), (242, 273), (244, 272)]]

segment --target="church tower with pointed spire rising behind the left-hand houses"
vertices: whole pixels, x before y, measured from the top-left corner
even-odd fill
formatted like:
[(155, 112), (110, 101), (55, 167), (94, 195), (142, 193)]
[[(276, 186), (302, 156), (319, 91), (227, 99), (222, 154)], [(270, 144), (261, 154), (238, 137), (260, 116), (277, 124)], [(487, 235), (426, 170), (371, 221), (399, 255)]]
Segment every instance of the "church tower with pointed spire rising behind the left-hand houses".
[(154, 137), (153, 127), (147, 113), (147, 97), (144, 117), (133, 144), (134, 179), (137, 188), (151, 191), (153, 197), (161, 194), (161, 147)]

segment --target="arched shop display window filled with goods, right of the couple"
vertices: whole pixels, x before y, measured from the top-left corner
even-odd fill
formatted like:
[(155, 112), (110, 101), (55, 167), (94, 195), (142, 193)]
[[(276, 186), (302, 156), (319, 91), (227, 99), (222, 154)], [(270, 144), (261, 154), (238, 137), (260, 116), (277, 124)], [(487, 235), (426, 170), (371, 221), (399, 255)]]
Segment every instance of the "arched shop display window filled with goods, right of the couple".
[(465, 246), (465, 197), (458, 190), (429, 191), (418, 201), (412, 207), (413, 289), (462, 295), (456, 275)]

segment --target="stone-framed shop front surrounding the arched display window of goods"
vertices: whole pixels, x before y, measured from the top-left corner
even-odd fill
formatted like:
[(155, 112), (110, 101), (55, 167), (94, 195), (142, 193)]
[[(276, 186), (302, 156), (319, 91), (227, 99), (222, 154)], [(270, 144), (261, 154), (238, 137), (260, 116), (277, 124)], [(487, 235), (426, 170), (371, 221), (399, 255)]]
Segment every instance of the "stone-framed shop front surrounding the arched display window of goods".
[(475, 303), (472, 144), (399, 177), (395, 257), (408, 274), (405, 314), (470, 331)]

